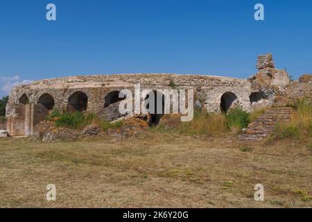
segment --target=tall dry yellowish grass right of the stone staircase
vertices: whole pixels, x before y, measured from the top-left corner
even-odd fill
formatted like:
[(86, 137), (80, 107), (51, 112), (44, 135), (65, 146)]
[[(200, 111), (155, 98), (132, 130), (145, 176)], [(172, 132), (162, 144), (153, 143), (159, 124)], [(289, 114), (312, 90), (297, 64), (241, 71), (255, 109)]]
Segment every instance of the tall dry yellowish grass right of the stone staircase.
[(295, 108), (295, 112), (291, 121), (286, 123), (278, 123), (275, 127), (273, 138), (311, 138), (312, 137), (312, 100), (300, 99), (291, 105)]

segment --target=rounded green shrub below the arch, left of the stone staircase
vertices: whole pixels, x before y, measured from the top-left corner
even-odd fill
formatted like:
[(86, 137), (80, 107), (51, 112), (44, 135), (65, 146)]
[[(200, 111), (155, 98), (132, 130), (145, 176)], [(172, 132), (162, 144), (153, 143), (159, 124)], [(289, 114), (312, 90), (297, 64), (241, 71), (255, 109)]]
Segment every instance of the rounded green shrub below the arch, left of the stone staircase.
[(250, 114), (240, 107), (230, 109), (227, 112), (227, 128), (232, 131), (241, 131), (250, 123)]

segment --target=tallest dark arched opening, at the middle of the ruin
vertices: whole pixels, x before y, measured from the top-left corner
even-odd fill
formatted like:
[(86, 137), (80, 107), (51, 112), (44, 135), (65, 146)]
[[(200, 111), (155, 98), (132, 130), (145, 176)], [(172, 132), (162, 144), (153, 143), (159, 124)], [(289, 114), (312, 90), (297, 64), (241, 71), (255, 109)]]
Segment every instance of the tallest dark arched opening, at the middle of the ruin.
[[(157, 99), (157, 92), (160, 94), (159, 98), (161, 99)], [(162, 119), (162, 116), (164, 115), (164, 102), (165, 102), (165, 97), (164, 94), (162, 92), (159, 92), (157, 90), (153, 90), (153, 92), (150, 92), (154, 94), (154, 101), (152, 101), (154, 108), (155, 108), (155, 112), (154, 113), (150, 113), (150, 119), (148, 121), (148, 125), (149, 126), (155, 126), (159, 123), (160, 119)], [(148, 103), (147, 99), (150, 97), (149, 94), (146, 95), (145, 98), (145, 103), (146, 104), (146, 109), (150, 109), (150, 103)], [(159, 105), (161, 106), (161, 108), (159, 108)]]

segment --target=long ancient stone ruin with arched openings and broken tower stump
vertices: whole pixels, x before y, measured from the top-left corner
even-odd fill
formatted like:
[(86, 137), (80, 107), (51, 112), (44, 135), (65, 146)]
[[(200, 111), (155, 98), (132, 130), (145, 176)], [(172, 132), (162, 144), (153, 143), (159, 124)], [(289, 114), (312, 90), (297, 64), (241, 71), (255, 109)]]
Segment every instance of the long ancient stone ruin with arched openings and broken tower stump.
[[(275, 69), (272, 55), (259, 56), (258, 73), (248, 79), (206, 75), (114, 74), (38, 80), (12, 89), (6, 107), (7, 130), (12, 136), (33, 135), (34, 127), (53, 109), (94, 112), (114, 120), (121, 117), (121, 89), (193, 89), (194, 103), (207, 112), (227, 112), (239, 105), (248, 112), (270, 106), (289, 83), (286, 71)], [(154, 121), (157, 121), (155, 117)]]

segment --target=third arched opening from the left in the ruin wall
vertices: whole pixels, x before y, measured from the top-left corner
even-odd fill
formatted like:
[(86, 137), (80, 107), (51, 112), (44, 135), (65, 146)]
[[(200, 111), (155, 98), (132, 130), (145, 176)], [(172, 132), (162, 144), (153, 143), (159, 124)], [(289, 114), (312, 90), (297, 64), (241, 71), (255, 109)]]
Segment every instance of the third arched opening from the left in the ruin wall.
[(68, 112), (83, 112), (87, 110), (88, 97), (85, 93), (79, 91), (74, 92), (68, 100), (67, 111)]

